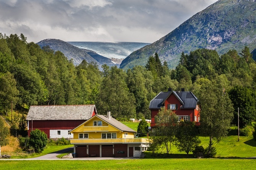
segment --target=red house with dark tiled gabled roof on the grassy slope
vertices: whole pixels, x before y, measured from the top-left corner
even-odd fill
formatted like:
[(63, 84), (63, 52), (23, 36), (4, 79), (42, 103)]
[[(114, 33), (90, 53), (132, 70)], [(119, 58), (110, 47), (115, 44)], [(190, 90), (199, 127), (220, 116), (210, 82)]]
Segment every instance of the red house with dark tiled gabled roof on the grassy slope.
[(168, 92), (160, 92), (151, 100), (149, 105), (149, 110), (151, 110), (151, 127), (155, 126), (155, 116), (161, 107), (172, 110), (179, 116), (179, 121), (193, 121), (198, 122), (196, 125), (199, 125), (198, 99), (192, 92), (185, 91), (184, 88), (181, 89), (181, 92), (175, 92), (169, 88)]

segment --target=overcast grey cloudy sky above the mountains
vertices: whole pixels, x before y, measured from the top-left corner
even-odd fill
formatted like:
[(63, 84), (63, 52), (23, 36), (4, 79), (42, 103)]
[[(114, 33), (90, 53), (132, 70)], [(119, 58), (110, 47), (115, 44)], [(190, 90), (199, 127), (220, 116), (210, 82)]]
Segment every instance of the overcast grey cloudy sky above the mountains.
[(0, 0), (0, 32), (28, 42), (153, 43), (217, 0)]

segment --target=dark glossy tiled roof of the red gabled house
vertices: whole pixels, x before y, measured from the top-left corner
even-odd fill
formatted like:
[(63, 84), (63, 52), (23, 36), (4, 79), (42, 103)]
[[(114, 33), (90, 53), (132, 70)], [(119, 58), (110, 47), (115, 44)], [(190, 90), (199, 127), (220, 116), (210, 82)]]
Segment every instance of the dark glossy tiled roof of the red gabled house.
[(164, 106), (164, 101), (173, 93), (178, 100), (182, 103), (181, 109), (196, 108), (198, 99), (192, 92), (160, 92), (149, 104), (149, 109), (160, 109)]

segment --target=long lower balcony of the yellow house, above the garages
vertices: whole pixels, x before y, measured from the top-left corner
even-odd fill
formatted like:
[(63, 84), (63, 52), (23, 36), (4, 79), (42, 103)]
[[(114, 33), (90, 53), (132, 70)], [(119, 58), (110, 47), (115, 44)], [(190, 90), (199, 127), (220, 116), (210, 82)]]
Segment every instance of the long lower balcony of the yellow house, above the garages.
[(145, 138), (129, 138), (129, 139), (71, 139), (71, 144), (79, 143), (148, 143)]

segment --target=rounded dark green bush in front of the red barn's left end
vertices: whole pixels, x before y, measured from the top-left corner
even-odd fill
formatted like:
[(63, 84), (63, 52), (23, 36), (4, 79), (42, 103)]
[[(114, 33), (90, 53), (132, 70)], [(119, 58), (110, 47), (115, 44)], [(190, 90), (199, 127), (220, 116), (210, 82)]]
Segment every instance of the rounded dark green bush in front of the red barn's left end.
[(36, 152), (42, 152), (47, 144), (47, 135), (39, 129), (30, 132), (29, 145), (32, 146)]

